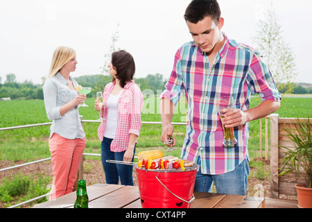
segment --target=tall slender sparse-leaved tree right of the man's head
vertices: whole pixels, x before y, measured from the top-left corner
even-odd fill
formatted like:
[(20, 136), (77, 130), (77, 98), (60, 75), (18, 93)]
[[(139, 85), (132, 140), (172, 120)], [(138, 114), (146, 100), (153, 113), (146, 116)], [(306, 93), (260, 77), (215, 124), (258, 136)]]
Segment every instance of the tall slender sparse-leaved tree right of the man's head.
[(275, 9), (271, 4), (270, 10), (266, 14), (266, 20), (259, 21), (260, 30), (253, 38), (257, 44), (257, 51), (263, 55), (263, 61), (268, 65), (277, 88), (286, 90), (286, 93), (293, 92), (293, 83), (297, 73), (295, 73), (295, 56), (293, 49), (283, 39), (281, 25), (278, 24)]

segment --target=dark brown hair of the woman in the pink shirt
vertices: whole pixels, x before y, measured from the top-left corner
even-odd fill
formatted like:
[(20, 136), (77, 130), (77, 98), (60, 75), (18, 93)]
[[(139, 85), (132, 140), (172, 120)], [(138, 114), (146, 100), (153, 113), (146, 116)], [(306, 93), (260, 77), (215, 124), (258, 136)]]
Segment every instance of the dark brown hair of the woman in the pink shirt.
[(135, 60), (124, 50), (112, 53), (112, 65), (116, 69), (116, 78), (120, 80), (121, 87), (130, 82), (135, 75)]

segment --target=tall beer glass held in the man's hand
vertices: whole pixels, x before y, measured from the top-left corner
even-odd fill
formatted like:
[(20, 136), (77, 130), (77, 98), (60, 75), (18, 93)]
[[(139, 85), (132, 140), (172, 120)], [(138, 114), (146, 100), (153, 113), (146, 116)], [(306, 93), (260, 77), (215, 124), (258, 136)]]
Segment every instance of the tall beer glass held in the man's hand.
[[(234, 108), (234, 99), (233, 97), (220, 97), (218, 98), (218, 114), (220, 116), (221, 122), (222, 119), (225, 116), (225, 113), (229, 112), (230, 110), (233, 110)], [(237, 140), (234, 136), (234, 129), (233, 128), (225, 128), (223, 126), (223, 133), (224, 133), (224, 138), (223, 138), (223, 145), (225, 146), (234, 146), (237, 143)]]

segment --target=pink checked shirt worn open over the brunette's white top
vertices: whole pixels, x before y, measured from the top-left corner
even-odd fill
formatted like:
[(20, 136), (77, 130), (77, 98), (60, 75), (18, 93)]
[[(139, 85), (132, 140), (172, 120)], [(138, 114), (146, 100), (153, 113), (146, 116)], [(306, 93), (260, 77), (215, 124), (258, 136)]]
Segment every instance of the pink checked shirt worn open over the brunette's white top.
[[(98, 126), (98, 138), (101, 139), (101, 141), (103, 141), (107, 118), (105, 103), (112, 92), (114, 83), (108, 83), (103, 93), (103, 121), (100, 126)], [(119, 96), (117, 105), (116, 135), (110, 145), (110, 150), (113, 152), (125, 151), (128, 148), (130, 133), (139, 136), (142, 125), (141, 109), (143, 106), (143, 94), (141, 90), (135, 84), (135, 80), (131, 80), (127, 83), (124, 89), (121, 96)]]

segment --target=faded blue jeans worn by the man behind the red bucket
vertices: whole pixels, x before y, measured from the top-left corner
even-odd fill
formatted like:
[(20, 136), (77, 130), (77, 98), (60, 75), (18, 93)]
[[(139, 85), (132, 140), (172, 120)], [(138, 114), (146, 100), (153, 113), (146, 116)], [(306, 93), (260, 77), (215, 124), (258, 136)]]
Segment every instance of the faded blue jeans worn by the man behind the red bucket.
[(249, 167), (246, 159), (233, 171), (220, 175), (202, 174), (199, 169), (196, 173), (194, 190), (210, 192), (214, 181), (218, 194), (246, 195), (248, 175)]

